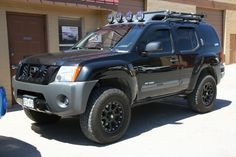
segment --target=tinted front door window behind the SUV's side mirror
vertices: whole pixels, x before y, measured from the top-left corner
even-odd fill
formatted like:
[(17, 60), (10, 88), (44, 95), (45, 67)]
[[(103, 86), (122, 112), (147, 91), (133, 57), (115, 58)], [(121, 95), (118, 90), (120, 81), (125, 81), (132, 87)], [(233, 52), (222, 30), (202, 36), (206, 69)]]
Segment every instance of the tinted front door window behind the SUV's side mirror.
[(138, 50), (145, 51), (145, 47), (150, 42), (160, 42), (161, 48), (156, 53), (172, 52), (171, 34), (168, 29), (151, 29), (142, 37)]

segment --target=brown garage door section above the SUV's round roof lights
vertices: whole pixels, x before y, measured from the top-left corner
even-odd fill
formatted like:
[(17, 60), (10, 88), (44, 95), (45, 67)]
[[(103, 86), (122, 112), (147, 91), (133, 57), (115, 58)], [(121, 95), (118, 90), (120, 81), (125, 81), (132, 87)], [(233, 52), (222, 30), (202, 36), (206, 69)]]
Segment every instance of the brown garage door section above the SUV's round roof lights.
[(144, 0), (120, 0), (118, 11), (126, 13), (128, 11), (137, 12), (144, 10)]

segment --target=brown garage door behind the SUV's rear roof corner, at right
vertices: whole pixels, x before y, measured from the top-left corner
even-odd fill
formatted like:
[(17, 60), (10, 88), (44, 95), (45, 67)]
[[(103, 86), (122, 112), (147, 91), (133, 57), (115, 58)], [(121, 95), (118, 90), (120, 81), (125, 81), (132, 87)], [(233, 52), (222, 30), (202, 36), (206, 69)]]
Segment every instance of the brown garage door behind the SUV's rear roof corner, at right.
[(205, 21), (214, 26), (220, 37), (221, 43), (223, 43), (223, 11), (197, 8), (197, 13), (203, 13), (207, 15)]

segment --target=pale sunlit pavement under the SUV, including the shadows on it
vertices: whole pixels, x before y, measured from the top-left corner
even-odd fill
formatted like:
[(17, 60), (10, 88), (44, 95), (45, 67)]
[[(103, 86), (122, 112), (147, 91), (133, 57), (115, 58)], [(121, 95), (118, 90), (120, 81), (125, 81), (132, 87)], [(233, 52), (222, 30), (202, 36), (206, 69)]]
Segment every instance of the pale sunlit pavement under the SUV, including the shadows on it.
[(38, 126), (20, 108), (0, 120), (0, 157), (235, 157), (236, 65), (226, 67), (213, 112), (196, 114), (182, 99), (133, 109), (125, 137), (101, 146), (87, 140), (77, 118)]

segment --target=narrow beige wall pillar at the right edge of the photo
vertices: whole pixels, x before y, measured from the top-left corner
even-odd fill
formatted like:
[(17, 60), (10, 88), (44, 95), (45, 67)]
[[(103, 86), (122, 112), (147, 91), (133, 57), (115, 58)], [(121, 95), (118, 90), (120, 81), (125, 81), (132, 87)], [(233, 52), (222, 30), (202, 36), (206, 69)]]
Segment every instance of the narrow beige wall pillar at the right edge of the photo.
[[(230, 62), (230, 34), (236, 34), (236, 11), (225, 11), (225, 38), (224, 38), (224, 52), (225, 62)], [(236, 43), (235, 43), (236, 44)]]

